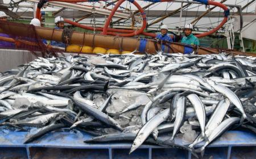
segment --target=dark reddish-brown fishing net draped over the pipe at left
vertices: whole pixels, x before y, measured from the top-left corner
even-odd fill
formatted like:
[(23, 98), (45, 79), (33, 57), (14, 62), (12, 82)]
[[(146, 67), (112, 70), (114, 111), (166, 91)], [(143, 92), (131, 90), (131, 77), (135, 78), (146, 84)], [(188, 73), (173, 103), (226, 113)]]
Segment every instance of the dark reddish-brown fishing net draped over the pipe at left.
[[(15, 26), (16, 29), (11, 30), (10, 26), (12, 28)], [(33, 25), (0, 21), (0, 32), (0, 43), (3, 44), (0, 48), (28, 50), (37, 57), (58, 56), (57, 53), (62, 52), (60, 49), (44, 44), (43, 39), (36, 34)]]

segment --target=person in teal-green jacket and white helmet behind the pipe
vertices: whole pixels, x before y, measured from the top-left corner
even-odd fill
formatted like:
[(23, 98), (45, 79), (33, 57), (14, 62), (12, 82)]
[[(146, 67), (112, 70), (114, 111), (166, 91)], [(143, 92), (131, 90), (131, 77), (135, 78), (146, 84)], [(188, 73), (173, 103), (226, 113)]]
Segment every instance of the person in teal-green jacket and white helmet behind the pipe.
[(195, 35), (192, 34), (193, 26), (192, 24), (185, 24), (184, 32), (185, 36), (182, 38), (181, 43), (188, 45), (199, 45), (199, 40)]

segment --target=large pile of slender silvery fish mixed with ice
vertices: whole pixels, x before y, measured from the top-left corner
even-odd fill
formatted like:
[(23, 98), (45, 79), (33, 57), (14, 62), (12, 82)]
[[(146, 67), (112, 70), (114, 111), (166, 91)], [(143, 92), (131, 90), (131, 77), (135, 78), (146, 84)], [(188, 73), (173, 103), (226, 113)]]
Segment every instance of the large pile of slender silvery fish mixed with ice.
[(85, 143), (133, 143), (130, 153), (143, 143), (203, 152), (228, 129), (256, 133), (255, 60), (162, 52), (39, 57), (1, 74), (1, 128), (38, 128), (24, 143), (69, 128), (94, 136)]

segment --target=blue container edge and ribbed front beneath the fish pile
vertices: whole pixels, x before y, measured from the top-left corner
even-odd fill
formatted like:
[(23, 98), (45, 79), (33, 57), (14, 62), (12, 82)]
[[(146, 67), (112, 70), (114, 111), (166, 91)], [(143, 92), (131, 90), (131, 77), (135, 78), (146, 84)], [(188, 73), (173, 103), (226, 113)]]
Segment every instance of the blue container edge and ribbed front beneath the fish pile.
[[(183, 149), (142, 145), (128, 154), (131, 144), (85, 144), (86, 133), (53, 132), (30, 144), (23, 144), (27, 132), (0, 133), (0, 158), (194, 158)], [(181, 144), (181, 139), (175, 142)], [(201, 143), (202, 145), (203, 143)], [(256, 158), (256, 135), (250, 132), (224, 133), (205, 150), (204, 158)]]

